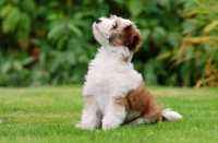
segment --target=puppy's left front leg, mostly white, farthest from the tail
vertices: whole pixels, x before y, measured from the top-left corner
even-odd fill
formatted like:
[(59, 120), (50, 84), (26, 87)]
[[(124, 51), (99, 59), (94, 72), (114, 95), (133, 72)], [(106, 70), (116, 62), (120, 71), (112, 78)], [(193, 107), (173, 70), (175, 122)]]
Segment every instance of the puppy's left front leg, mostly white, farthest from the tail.
[(85, 96), (82, 121), (76, 124), (76, 128), (94, 130), (100, 126), (101, 117), (96, 106), (94, 96)]

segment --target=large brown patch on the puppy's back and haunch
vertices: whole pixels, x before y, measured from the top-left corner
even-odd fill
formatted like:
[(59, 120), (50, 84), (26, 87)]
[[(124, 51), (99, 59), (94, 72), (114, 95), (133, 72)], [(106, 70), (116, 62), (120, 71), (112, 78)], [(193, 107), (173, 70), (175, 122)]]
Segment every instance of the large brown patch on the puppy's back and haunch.
[(154, 96), (152, 96), (148, 91), (145, 90), (144, 82), (142, 82), (136, 90), (131, 91), (126, 95), (126, 100), (130, 110), (135, 110), (141, 112), (140, 117), (131, 119), (131, 121), (137, 118), (145, 118), (147, 120), (153, 120), (153, 121), (162, 120), (161, 107), (157, 102), (157, 99)]

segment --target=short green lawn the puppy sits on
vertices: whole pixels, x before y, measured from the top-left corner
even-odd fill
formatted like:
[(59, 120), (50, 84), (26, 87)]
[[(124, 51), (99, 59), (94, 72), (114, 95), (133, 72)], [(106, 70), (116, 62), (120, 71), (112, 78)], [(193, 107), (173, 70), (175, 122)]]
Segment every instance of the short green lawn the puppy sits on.
[(1, 143), (216, 143), (218, 88), (148, 87), (162, 108), (182, 120), (80, 130), (82, 86), (0, 88)]

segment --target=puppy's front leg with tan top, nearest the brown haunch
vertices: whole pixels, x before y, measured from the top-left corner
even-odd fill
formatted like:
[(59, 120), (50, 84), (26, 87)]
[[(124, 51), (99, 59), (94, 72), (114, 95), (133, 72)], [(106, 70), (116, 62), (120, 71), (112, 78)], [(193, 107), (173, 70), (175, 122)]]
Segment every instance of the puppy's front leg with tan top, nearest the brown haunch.
[(102, 129), (113, 129), (123, 123), (126, 110), (128, 102), (124, 97), (112, 97), (102, 119)]

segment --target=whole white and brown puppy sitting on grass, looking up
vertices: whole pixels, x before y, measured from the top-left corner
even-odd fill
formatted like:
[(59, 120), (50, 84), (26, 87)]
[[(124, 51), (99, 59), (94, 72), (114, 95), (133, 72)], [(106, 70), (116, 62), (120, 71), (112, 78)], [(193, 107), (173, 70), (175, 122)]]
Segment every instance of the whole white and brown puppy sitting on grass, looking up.
[(123, 123), (140, 124), (162, 119), (178, 120), (182, 116), (161, 110), (157, 99), (145, 90), (142, 75), (133, 69), (131, 59), (142, 45), (135, 24), (111, 15), (93, 24), (93, 33), (101, 47), (89, 63), (83, 88), (85, 105), (77, 128), (104, 130)]

